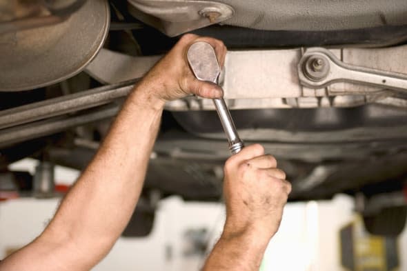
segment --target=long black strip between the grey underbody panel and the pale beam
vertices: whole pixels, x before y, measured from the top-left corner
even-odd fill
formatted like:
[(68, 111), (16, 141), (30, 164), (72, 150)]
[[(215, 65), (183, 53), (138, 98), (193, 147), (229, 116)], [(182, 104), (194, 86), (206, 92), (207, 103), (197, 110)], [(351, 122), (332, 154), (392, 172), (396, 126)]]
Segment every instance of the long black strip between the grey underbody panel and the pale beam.
[(287, 48), (309, 46), (390, 46), (407, 40), (406, 26), (380, 26), (352, 30), (255, 30), (210, 26), (192, 31), (224, 41), (228, 48)]

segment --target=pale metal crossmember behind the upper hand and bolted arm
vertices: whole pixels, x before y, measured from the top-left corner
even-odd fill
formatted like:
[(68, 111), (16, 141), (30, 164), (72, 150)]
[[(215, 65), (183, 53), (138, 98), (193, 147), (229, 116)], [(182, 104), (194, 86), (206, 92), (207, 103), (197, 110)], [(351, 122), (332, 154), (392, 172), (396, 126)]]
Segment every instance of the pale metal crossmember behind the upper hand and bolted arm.
[[(371, 87), (361, 83), (331, 83), (327, 88), (307, 88), (300, 83), (298, 64), (310, 49), (301, 50), (237, 50), (226, 55), (224, 72), (219, 83), (224, 89), (228, 108), (317, 108), (353, 107), (367, 103), (382, 103), (406, 108), (404, 97), (388, 86)], [(393, 48), (330, 49), (337, 59), (353, 66), (369, 66), (377, 70), (392, 70), (407, 74), (407, 46)], [(86, 72), (101, 83), (118, 83), (142, 77), (160, 56), (132, 57), (103, 49), (86, 68)], [(319, 68), (320, 61), (312, 63)], [(302, 66), (301, 66), (302, 67)], [(331, 67), (330, 67), (331, 68)], [(318, 74), (316, 74), (318, 75)], [(302, 76), (304, 80), (304, 76)], [(315, 83), (315, 82), (312, 82)], [(166, 110), (215, 110), (210, 99), (188, 97), (166, 103)]]

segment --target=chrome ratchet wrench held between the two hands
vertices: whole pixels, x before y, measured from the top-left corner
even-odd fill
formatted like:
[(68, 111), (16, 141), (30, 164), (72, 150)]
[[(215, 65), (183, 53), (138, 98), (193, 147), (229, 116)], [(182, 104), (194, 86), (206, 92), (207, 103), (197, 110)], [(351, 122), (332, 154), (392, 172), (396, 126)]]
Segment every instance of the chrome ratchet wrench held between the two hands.
[[(209, 43), (204, 41), (193, 43), (188, 49), (187, 58), (190, 68), (198, 80), (218, 83), (221, 68), (215, 50)], [(235, 123), (233, 123), (225, 100), (223, 98), (213, 99), (213, 103), (228, 138), (229, 150), (232, 154), (237, 154), (244, 147), (244, 143), (237, 134)]]

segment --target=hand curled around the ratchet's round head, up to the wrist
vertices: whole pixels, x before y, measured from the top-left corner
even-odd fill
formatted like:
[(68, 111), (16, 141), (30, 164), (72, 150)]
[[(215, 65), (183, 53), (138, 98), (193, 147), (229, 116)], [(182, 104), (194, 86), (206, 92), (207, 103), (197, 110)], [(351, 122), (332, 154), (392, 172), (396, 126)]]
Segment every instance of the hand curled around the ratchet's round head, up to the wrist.
[(188, 94), (197, 94), (210, 99), (222, 97), (223, 92), (219, 86), (199, 81), (190, 70), (186, 55), (188, 48), (197, 41), (206, 41), (215, 49), (219, 66), (222, 68), (227, 51), (223, 42), (210, 37), (185, 34), (174, 48), (146, 74), (141, 84), (163, 101), (179, 99)]

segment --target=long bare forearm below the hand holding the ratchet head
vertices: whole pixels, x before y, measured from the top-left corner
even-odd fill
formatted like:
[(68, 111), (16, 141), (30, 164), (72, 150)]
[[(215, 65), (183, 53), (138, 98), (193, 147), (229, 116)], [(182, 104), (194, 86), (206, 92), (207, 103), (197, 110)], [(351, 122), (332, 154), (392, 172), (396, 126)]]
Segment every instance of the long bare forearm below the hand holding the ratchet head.
[(163, 108), (143, 88), (130, 94), (97, 155), (43, 233), (43, 238), (54, 238), (63, 232), (78, 250), (94, 253), (88, 254), (90, 266), (123, 231), (143, 186)]

